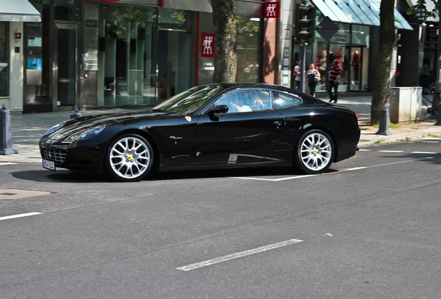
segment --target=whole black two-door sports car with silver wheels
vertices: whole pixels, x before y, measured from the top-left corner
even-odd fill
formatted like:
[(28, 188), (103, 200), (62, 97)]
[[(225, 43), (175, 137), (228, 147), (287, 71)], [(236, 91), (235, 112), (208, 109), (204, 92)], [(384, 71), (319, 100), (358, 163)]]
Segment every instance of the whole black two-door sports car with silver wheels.
[(208, 84), (130, 114), (85, 116), (49, 129), (43, 167), (105, 170), (137, 181), (151, 170), (293, 165), (306, 174), (354, 156), (356, 114), (268, 84)]

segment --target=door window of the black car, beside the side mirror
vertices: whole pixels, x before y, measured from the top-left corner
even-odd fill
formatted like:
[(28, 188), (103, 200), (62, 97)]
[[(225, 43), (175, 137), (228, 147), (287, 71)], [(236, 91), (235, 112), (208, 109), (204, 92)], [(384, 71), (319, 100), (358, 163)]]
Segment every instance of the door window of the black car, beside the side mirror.
[(228, 113), (273, 109), (270, 91), (266, 89), (239, 89), (216, 101), (216, 106), (227, 105)]

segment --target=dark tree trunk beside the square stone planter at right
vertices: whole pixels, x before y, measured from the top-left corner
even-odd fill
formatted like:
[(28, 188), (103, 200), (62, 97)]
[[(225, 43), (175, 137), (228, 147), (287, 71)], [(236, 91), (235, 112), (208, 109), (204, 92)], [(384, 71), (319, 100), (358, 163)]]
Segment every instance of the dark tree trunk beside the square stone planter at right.
[(390, 98), (390, 62), (395, 43), (395, 0), (381, 0), (380, 6), (380, 40), (379, 59), (375, 71), (372, 106), (370, 108), (370, 123), (377, 125), (380, 120), (380, 110), (386, 106)]

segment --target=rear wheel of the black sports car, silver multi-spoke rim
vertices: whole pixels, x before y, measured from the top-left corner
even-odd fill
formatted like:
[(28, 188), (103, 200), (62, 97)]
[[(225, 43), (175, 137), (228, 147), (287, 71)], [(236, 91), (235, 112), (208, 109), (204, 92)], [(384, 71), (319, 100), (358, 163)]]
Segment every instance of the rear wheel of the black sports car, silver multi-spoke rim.
[(315, 129), (304, 132), (294, 148), (294, 166), (305, 174), (320, 174), (334, 161), (334, 143), (325, 132)]

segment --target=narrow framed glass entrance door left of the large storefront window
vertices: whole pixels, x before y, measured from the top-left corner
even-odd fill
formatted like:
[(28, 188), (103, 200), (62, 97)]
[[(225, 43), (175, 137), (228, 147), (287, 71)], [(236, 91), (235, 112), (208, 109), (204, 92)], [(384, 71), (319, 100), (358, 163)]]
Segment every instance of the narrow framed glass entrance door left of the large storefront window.
[(53, 68), (54, 111), (78, 106), (78, 24), (55, 24)]

